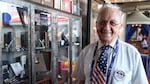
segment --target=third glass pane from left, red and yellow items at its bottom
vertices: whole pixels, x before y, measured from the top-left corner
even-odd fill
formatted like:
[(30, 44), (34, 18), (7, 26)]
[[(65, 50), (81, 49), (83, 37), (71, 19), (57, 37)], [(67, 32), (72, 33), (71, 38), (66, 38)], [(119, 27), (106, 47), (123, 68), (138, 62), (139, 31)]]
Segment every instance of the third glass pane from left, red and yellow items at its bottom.
[(69, 77), (69, 17), (57, 16), (57, 36), (58, 36), (58, 78), (62, 78), (63, 83), (68, 82)]

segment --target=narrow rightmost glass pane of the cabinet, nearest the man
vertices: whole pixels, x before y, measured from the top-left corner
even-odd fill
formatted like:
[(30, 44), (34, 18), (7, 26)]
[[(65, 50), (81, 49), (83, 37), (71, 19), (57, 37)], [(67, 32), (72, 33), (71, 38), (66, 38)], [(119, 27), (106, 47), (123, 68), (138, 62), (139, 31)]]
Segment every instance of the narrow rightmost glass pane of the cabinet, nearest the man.
[(72, 71), (76, 65), (76, 61), (78, 59), (80, 50), (81, 50), (81, 19), (80, 18), (73, 18), (72, 19), (72, 29), (71, 29), (71, 36), (72, 36)]

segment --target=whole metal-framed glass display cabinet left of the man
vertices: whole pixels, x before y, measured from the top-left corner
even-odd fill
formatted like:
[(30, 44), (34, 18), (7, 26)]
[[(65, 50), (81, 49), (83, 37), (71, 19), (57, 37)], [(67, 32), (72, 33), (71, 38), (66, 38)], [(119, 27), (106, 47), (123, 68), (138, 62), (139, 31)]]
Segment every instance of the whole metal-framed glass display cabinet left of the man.
[(0, 84), (71, 84), (81, 17), (33, 1), (0, 3)]

